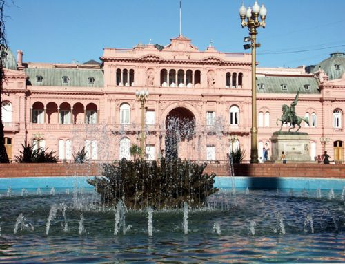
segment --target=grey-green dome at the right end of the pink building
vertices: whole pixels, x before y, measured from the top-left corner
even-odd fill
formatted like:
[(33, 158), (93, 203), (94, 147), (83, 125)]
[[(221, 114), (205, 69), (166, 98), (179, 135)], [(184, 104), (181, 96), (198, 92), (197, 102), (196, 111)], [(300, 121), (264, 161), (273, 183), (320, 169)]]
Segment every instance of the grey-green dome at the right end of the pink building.
[(342, 78), (345, 73), (345, 53), (331, 53), (330, 57), (317, 64), (313, 70), (311, 70), (311, 73), (315, 73), (319, 68), (324, 70), (326, 75), (328, 75), (328, 79)]

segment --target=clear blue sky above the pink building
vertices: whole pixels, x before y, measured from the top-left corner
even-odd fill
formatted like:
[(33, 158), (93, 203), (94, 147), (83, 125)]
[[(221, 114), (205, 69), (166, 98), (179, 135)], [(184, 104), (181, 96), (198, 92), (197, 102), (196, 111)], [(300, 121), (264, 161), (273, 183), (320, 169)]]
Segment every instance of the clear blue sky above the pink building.
[[(103, 48), (132, 48), (139, 42), (169, 44), (179, 34), (179, 0), (14, 0), (6, 8), (12, 51), (24, 62), (86, 62)], [(183, 0), (182, 34), (204, 50), (244, 52), (238, 15), (242, 0)], [(246, 6), (254, 0), (244, 1)], [(266, 28), (259, 28), (260, 66), (317, 64), (345, 50), (345, 0), (264, 0)], [(330, 48), (331, 47), (331, 48)], [(309, 50), (300, 53), (295, 51)], [(282, 53), (283, 54), (279, 54)], [(286, 53), (288, 52), (288, 53)], [(292, 53), (290, 53), (292, 52)]]

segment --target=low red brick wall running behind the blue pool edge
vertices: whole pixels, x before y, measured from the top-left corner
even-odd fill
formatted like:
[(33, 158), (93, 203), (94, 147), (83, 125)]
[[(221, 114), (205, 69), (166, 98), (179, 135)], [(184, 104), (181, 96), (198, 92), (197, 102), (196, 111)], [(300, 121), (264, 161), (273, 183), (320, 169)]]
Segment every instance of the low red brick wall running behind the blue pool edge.
[[(100, 164), (0, 164), (1, 177), (97, 176)], [(205, 172), (229, 175), (228, 166), (208, 164)], [(345, 164), (235, 164), (235, 176), (345, 178)]]

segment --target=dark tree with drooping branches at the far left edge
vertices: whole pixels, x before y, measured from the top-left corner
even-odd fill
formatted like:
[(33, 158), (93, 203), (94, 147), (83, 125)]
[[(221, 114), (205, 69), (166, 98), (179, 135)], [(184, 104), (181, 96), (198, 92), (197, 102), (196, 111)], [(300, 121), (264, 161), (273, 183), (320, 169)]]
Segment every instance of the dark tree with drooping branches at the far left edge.
[[(0, 47), (1, 50), (7, 50), (7, 41), (5, 34), (5, 17), (3, 15), (3, 8), (6, 6), (6, 0), (0, 0)], [(5, 73), (3, 70), (3, 59), (0, 57), (0, 163), (9, 163), (8, 155), (5, 149), (5, 134), (3, 133), (3, 122), (2, 122), (2, 102), (3, 102), (3, 82), (5, 82)]]

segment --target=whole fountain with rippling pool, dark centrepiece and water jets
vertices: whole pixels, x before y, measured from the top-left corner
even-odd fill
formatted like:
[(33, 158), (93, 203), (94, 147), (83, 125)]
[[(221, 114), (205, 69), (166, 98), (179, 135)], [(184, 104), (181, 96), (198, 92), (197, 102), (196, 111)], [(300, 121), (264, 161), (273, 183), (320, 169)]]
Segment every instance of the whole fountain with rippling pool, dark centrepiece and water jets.
[[(207, 133), (217, 138), (217, 127)], [(90, 185), (80, 175), (69, 187), (59, 185), (68, 177), (15, 188), (0, 179), (0, 262), (344, 262), (345, 189), (330, 179), (253, 189), (240, 177), (221, 187), (188, 160), (102, 168)]]

